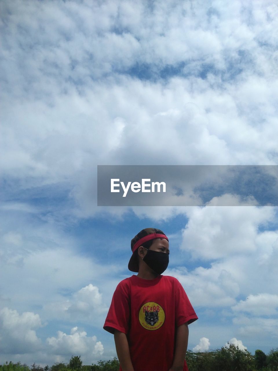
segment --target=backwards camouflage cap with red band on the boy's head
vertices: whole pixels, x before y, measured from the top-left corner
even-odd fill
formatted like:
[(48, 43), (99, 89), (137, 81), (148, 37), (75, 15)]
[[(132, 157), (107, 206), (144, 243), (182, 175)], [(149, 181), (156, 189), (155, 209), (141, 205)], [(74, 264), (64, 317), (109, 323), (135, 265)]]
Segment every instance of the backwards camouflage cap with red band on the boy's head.
[(132, 256), (128, 263), (128, 269), (132, 272), (139, 271), (139, 257), (138, 257), (138, 248), (140, 246), (145, 247), (145, 249), (149, 249), (152, 246), (153, 240), (155, 239), (166, 239), (165, 233), (162, 232), (160, 229), (156, 228), (145, 228), (142, 229), (136, 236), (131, 240), (131, 250)]

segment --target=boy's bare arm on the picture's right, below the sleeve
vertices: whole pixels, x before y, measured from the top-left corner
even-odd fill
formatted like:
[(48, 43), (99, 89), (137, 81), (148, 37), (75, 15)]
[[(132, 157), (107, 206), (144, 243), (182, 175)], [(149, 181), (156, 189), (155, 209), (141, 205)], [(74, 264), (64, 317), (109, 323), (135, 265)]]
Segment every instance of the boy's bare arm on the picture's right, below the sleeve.
[(188, 324), (179, 326), (176, 330), (176, 347), (173, 365), (169, 371), (182, 371), (188, 344)]

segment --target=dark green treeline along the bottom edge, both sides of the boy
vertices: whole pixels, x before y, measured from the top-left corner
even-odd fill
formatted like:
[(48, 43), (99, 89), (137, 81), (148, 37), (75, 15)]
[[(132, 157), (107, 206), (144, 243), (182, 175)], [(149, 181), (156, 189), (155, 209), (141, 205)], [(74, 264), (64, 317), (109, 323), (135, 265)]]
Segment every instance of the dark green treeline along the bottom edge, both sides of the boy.
[[(272, 349), (268, 354), (257, 349), (252, 355), (230, 344), (229, 348), (222, 347), (214, 351), (194, 353), (188, 350), (186, 361), (189, 371), (278, 371), (278, 348)], [(75, 356), (68, 364), (57, 362), (44, 368), (35, 363), (29, 367), (20, 362), (6, 362), (0, 365), (0, 371), (119, 371), (119, 361), (114, 358), (85, 366), (82, 365), (80, 356)]]

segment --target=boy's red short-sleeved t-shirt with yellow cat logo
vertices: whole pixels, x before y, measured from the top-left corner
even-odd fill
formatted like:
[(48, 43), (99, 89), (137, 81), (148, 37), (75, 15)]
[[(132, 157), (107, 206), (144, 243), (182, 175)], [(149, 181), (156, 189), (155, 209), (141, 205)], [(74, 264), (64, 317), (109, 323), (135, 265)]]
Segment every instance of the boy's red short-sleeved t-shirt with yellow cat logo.
[(114, 329), (126, 334), (135, 371), (169, 371), (176, 328), (196, 319), (176, 278), (160, 275), (147, 280), (133, 275), (116, 287), (103, 328), (112, 334)]

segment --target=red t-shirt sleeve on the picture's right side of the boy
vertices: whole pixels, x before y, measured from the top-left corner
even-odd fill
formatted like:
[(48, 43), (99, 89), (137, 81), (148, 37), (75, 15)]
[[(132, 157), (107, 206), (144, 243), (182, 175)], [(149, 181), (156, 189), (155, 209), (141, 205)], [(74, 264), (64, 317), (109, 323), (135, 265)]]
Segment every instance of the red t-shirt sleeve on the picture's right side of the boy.
[(175, 325), (181, 326), (185, 323), (188, 325), (198, 319), (191, 302), (186, 295), (181, 283), (176, 280), (175, 290)]

